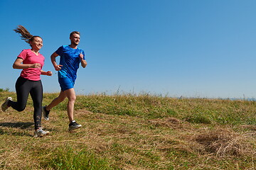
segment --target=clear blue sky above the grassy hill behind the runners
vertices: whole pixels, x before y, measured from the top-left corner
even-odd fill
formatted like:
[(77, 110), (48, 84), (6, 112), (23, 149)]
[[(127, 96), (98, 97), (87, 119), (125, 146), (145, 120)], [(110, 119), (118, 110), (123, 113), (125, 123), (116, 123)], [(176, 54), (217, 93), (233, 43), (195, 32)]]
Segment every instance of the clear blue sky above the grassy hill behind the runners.
[(15, 91), (18, 25), (43, 38), (45, 92), (59, 92), (50, 55), (81, 33), (77, 94), (256, 97), (255, 0), (0, 1), (0, 88)]

